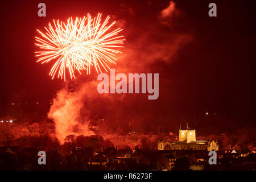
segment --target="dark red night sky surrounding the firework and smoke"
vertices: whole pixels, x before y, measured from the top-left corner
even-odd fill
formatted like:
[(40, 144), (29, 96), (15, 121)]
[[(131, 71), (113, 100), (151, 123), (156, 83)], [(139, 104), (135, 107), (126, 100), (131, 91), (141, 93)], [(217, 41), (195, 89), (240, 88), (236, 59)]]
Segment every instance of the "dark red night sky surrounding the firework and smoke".
[[(46, 3), (46, 17), (37, 15), (40, 2)], [(168, 60), (156, 56), (148, 63), (146, 56), (145, 60), (143, 57), (136, 60), (141, 65), (138, 69), (131, 64), (133, 69), (130, 70), (134, 72), (159, 73), (159, 99), (148, 101), (144, 97), (138, 103), (129, 102), (123, 109), (133, 110), (131, 108), (137, 105), (138, 114), (151, 113), (149, 120), (155, 121), (152, 127), (164, 126), (168, 122), (162, 119), (164, 117), (178, 120), (175, 125), (194, 121), (195, 127), (201, 125), (202, 128), (209, 128), (214, 121), (218, 125), (214, 126), (216, 131), (220, 125), (222, 131), (227, 126), (255, 127), (252, 72), (256, 19), (253, 1), (214, 1), (217, 4), (217, 17), (214, 18), (208, 16), (208, 5), (213, 1), (174, 2), (174, 13), (163, 23), (159, 16), (170, 1), (1, 1), (2, 109), (11, 102), (48, 101), (65, 85), (48, 76), (51, 64), (36, 63), (34, 37), (38, 35), (37, 28), (43, 30), (52, 19), (65, 21), (69, 16), (87, 13), (95, 16), (100, 12), (125, 21), (122, 27), (125, 50), (135, 52), (138, 47), (142, 52), (148, 51), (151, 42), (155, 46), (171, 44), (171, 48), (175, 48), (175, 42), (181, 40)], [(115, 68), (121, 69), (126, 64), (127, 61), (120, 60)]]

